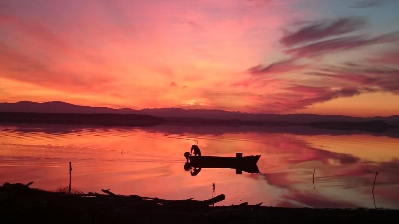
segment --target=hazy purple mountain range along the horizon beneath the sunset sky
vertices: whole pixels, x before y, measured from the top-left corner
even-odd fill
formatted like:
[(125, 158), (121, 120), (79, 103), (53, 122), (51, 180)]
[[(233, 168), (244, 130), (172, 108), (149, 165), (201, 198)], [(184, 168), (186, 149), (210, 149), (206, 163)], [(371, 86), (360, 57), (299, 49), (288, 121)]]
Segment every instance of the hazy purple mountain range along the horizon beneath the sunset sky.
[[(35, 112), (35, 113), (73, 113), (73, 114), (144, 114), (166, 120), (178, 120), (182, 122), (192, 120), (187, 118), (259, 121), (263, 124), (308, 124), (312, 122), (369, 122), (383, 121), (389, 125), (399, 126), (399, 116), (389, 117), (352, 117), (339, 115), (317, 114), (251, 114), (241, 112), (229, 112), (225, 110), (186, 110), (182, 108), (154, 108), (134, 110), (131, 108), (113, 109), (108, 107), (91, 107), (69, 104), (66, 102), (30, 102), (20, 101), (16, 103), (0, 103), (0, 112)], [(184, 119), (183, 119), (184, 118)], [(198, 120), (198, 119), (197, 119)], [(200, 121), (199, 119), (198, 121)]]

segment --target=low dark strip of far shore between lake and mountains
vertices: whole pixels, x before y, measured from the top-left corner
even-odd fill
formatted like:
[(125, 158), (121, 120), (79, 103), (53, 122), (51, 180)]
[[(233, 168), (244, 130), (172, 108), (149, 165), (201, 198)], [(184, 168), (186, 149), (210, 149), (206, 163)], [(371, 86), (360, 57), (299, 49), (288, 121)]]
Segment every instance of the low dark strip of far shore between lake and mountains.
[(287, 122), (243, 121), (238, 119), (210, 118), (159, 118), (143, 114), (74, 114), (74, 113), (23, 113), (0, 112), (0, 123), (27, 124), (83, 124), (100, 126), (154, 126), (159, 124), (178, 126), (270, 126), (300, 125), (313, 128), (334, 130), (359, 130), (367, 132), (385, 132), (398, 130), (398, 126), (383, 121), (367, 122), (310, 122), (295, 124)]

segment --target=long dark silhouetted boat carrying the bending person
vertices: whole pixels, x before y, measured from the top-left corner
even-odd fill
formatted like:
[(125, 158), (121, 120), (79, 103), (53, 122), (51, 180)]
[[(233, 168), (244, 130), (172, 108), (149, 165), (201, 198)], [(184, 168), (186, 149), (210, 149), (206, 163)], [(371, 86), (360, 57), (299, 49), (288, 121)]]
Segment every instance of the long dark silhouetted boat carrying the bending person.
[(184, 156), (190, 162), (192, 166), (199, 167), (220, 167), (220, 166), (249, 166), (256, 165), (261, 155), (250, 155), (242, 156), (242, 153), (236, 153), (235, 157), (223, 157), (223, 156), (194, 156), (190, 153), (184, 153)]

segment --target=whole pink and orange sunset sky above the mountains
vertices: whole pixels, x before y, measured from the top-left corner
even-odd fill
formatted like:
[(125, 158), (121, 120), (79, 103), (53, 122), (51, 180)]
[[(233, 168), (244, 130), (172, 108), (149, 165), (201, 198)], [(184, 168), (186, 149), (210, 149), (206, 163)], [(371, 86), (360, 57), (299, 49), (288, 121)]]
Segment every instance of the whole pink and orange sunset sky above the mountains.
[(0, 102), (399, 114), (398, 0), (0, 0)]

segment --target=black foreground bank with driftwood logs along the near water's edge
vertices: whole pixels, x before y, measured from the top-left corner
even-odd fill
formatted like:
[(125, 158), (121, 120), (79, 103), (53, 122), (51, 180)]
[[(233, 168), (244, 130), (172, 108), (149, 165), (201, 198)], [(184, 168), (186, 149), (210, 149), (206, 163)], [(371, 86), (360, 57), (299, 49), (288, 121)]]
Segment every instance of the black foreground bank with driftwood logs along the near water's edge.
[[(399, 210), (278, 208), (245, 203), (208, 206), (205, 201), (137, 195), (66, 194), (23, 184), (0, 187), (1, 223), (397, 223)], [(223, 200), (224, 195), (217, 196)]]

